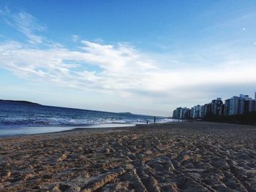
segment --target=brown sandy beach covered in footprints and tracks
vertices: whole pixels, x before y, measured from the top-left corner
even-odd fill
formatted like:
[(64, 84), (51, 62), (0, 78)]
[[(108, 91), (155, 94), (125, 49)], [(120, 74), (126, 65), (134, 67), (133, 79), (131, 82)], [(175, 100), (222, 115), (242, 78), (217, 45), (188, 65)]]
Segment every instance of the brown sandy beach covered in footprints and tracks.
[(256, 126), (184, 122), (1, 138), (0, 191), (256, 191)]

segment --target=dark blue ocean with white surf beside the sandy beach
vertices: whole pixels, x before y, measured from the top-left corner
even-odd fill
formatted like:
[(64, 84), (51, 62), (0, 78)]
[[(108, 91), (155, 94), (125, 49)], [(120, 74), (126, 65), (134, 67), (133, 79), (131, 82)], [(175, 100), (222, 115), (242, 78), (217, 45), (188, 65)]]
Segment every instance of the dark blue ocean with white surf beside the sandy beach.
[[(39, 104), (0, 101), (0, 136), (13, 134), (39, 134), (65, 131), (72, 128), (134, 126), (154, 122), (153, 116), (128, 112), (102, 112)], [(157, 117), (157, 122), (170, 121)]]

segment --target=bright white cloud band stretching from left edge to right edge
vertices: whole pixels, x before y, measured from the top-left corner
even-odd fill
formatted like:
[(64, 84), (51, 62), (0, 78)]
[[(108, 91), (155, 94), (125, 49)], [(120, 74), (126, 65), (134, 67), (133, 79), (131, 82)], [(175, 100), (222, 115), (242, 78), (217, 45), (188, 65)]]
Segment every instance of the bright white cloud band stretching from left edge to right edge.
[(171, 92), (182, 86), (256, 81), (253, 59), (203, 69), (165, 70), (159, 69), (156, 61), (147, 61), (134, 47), (121, 44), (83, 41), (83, 46), (74, 51), (63, 47), (40, 50), (20, 42), (4, 42), (0, 53), (0, 66), (20, 77), (116, 95), (131, 96), (141, 91), (154, 95), (154, 91)]

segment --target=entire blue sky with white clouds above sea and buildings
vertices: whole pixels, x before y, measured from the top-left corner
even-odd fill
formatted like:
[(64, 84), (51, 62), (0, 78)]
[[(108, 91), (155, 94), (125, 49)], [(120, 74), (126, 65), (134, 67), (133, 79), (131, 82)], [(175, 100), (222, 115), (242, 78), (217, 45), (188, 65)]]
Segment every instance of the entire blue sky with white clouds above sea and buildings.
[(256, 1), (0, 1), (0, 99), (172, 116), (256, 91)]

